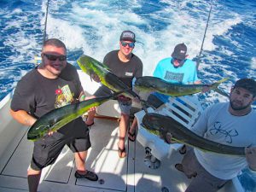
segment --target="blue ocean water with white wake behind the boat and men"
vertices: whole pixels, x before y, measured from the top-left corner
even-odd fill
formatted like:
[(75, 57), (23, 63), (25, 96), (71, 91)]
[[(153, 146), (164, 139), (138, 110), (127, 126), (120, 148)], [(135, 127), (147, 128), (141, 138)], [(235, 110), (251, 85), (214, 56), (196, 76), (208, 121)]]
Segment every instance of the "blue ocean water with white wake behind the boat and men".
[[(189, 58), (199, 55), (209, 9), (212, 12), (201, 54), (203, 83), (230, 78), (220, 85), (226, 92), (237, 79), (256, 77), (256, 2), (254, 0), (49, 0), (48, 38), (60, 38), (68, 61), (78, 67), (79, 55), (102, 61), (119, 48), (119, 35), (137, 35), (134, 53), (151, 75), (176, 44), (188, 45)], [(43, 43), (47, 0), (0, 0), (0, 100), (34, 67)], [(78, 67), (79, 68), (79, 67)], [(203, 107), (227, 101), (215, 92), (201, 95)]]

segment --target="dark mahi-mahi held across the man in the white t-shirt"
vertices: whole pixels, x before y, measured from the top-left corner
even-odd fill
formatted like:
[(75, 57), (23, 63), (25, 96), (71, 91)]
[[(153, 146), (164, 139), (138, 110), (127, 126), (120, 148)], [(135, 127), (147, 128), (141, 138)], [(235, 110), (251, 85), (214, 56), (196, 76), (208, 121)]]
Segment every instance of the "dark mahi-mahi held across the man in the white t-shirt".
[(172, 134), (172, 140), (200, 148), (203, 151), (238, 156), (245, 155), (245, 147), (233, 147), (200, 137), (169, 116), (158, 113), (146, 113), (143, 117), (143, 127), (157, 136), (169, 132)]

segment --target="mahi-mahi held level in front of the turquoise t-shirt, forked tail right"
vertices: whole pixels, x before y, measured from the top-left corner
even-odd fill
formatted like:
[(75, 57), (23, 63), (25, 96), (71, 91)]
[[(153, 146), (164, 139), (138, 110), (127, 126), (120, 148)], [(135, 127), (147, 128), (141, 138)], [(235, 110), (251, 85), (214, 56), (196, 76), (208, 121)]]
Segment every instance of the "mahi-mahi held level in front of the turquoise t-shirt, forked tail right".
[(213, 84), (173, 84), (160, 78), (143, 76), (137, 78), (134, 86), (137, 90), (155, 91), (167, 96), (187, 96), (199, 93), (204, 89), (204, 87), (207, 87), (209, 90), (215, 90), (223, 96), (229, 96), (222, 90), (218, 89), (218, 85), (226, 80), (227, 79), (221, 79)]

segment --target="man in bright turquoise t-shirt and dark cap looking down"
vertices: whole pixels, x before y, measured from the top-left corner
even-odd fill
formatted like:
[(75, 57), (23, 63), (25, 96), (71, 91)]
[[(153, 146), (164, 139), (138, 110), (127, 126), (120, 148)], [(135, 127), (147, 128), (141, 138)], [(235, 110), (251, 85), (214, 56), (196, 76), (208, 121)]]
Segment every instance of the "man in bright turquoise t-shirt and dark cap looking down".
[[(187, 59), (187, 57), (187, 46), (177, 44), (172, 51), (172, 57), (167, 57), (157, 64), (153, 76), (175, 84), (200, 84), (201, 81), (197, 78), (195, 62)], [(159, 108), (162, 104), (169, 102), (169, 97), (154, 92), (148, 96), (148, 103), (154, 108)], [(136, 128), (137, 119), (134, 119), (129, 136), (135, 135)], [(185, 148), (182, 148), (180, 152), (183, 154), (185, 150)]]

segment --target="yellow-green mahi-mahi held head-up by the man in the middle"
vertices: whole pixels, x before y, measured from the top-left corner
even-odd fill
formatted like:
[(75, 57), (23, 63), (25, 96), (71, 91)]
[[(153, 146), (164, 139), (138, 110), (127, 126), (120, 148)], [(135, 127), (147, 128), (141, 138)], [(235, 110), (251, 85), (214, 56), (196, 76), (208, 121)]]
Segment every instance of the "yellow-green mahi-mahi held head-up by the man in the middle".
[(78, 63), (84, 73), (87, 73), (90, 77), (92, 74), (96, 74), (100, 78), (101, 83), (107, 86), (110, 90), (113, 90), (114, 92), (126, 90), (123, 94), (124, 96), (139, 98), (134, 91), (129, 89), (123, 81), (121, 81), (115, 74), (111, 73), (110, 69), (100, 61), (96, 61), (88, 55), (81, 55)]

